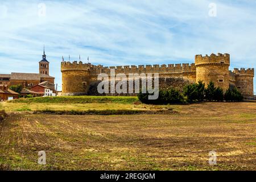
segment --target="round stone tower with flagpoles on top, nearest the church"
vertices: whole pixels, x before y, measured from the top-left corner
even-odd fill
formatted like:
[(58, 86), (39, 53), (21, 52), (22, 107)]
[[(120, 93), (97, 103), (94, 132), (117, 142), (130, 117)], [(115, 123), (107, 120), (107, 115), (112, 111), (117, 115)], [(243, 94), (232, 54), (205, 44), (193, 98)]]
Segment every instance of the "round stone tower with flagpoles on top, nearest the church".
[(62, 95), (63, 96), (82, 96), (89, 89), (89, 64), (77, 64), (63, 61), (61, 63), (62, 72)]

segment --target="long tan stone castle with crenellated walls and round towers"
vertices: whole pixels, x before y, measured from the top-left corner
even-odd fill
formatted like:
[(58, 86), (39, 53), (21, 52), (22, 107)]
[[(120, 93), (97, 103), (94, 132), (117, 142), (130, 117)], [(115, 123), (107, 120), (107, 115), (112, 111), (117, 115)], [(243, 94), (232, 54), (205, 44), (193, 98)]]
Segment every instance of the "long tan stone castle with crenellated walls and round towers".
[(62, 61), (62, 88), (63, 95), (75, 96), (92, 93), (91, 90), (97, 83), (97, 76), (106, 73), (110, 76), (110, 69), (115, 70), (115, 74), (124, 73), (159, 73), (160, 86), (173, 86), (182, 89), (187, 83), (203, 81), (206, 85), (213, 81), (216, 86), (220, 86), (224, 92), (230, 87), (236, 87), (247, 99), (254, 98), (253, 92), (253, 69), (237, 69), (229, 71), (230, 55), (228, 53), (210, 56), (195, 56), (193, 64), (163, 64), (163, 65), (125, 65), (118, 67), (103, 67), (102, 65), (83, 64), (82, 61)]

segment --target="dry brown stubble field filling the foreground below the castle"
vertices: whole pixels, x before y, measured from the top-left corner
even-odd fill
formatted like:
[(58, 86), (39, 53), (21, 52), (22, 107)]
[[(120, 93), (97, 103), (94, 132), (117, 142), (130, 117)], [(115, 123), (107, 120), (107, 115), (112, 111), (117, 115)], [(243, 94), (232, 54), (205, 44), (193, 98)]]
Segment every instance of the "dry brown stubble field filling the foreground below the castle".
[[(256, 102), (174, 107), (178, 114), (9, 113), (0, 123), (0, 169), (256, 169)], [(37, 163), (42, 150), (44, 166)]]

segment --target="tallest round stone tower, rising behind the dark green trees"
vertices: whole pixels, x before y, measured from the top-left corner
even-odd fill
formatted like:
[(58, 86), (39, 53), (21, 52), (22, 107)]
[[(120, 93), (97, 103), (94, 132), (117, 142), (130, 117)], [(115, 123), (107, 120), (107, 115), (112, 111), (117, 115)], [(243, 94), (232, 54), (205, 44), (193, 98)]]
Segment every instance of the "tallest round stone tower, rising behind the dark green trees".
[(229, 65), (230, 56), (228, 53), (218, 53), (208, 56), (196, 55), (196, 81), (203, 81), (205, 85), (210, 81), (214, 86), (222, 88), (224, 92), (229, 89)]

